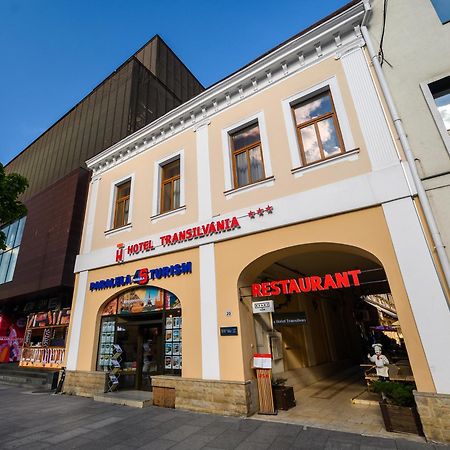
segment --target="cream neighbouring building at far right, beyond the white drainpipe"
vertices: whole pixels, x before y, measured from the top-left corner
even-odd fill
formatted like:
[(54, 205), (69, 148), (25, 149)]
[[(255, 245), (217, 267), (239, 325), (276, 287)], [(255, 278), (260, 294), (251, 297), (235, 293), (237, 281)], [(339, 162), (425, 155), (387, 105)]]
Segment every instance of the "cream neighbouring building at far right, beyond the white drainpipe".
[[(442, 266), (450, 265), (450, 2), (445, 0), (372, 0), (367, 27), (374, 50), (437, 225), (430, 239), (434, 255), (441, 245)], [(384, 18), (385, 16), (385, 18)], [(384, 33), (383, 33), (384, 29)], [(380, 42), (382, 42), (380, 48)], [(439, 238), (442, 241), (439, 244)], [(441, 247), (441, 248), (442, 248)], [(438, 267), (442, 267), (438, 263)], [(445, 285), (445, 278), (442, 279)], [(448, 286), (448, 284), (447, 284)], [(425, 303), (436, 301), (430, 297)], [(446, 312), (448, 315), (448, 310)], [(448, 334), (448, 332), (447, 332)], [(447, 370), (450, 360), (447, 359)], [(446, 392), (448, 391), (438, 391)], [(434, 402), (424, 398), (421, 402)], [(437, 400), (439, 401), (439, 400)], [(430, 408), (432, 411), (432, 408)], [(447, 415), (448, 417), (448, 415)], [(439, 438), (441, 415), (432, 414), (428, 434)], [(447, 429), (450, 427), (446, 423)], [(448, 435), (447, 435), (448, 437)]]

